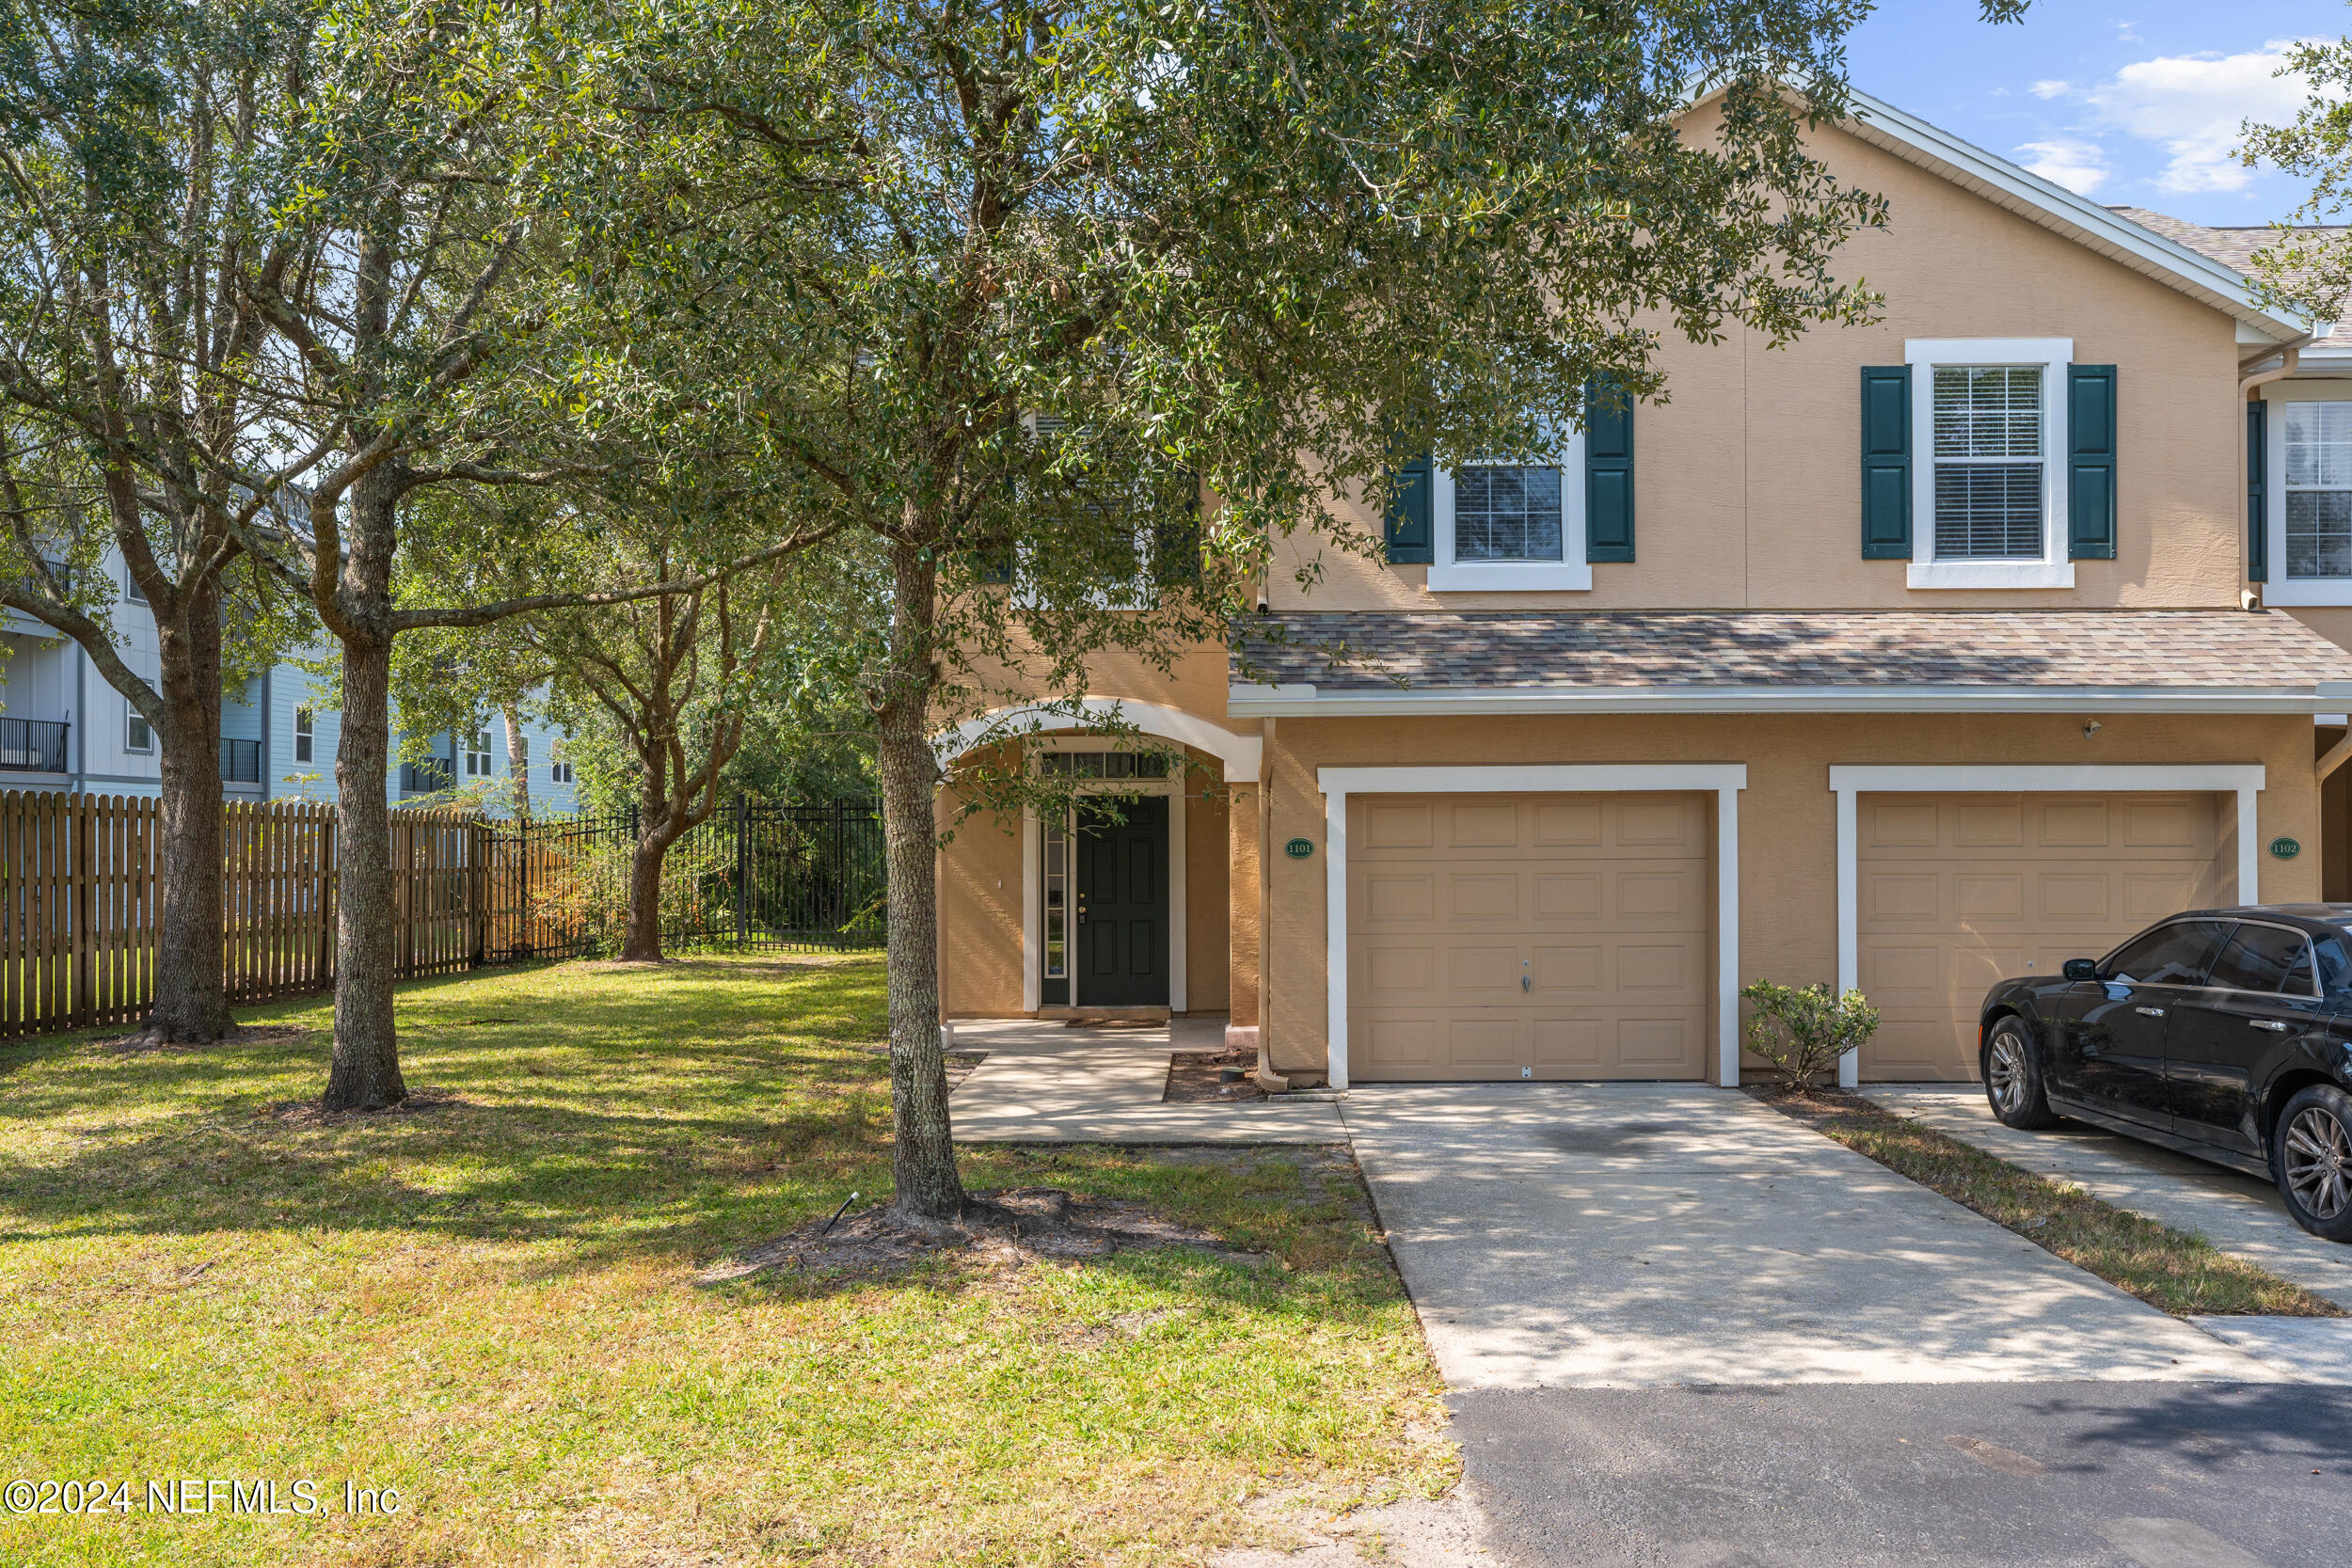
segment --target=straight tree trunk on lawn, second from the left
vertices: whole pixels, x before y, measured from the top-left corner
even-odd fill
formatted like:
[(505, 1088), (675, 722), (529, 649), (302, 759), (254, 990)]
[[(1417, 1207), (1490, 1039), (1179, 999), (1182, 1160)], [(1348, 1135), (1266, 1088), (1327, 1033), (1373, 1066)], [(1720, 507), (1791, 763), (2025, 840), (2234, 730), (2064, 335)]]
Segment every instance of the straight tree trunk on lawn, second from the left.
[(393, 1030), (393, 543), (400, 475), (353, 487), (339, 609), (343, 733), (334, 748), (334, 1065), (327, 1110), (383, 1110), (409, 1095)]

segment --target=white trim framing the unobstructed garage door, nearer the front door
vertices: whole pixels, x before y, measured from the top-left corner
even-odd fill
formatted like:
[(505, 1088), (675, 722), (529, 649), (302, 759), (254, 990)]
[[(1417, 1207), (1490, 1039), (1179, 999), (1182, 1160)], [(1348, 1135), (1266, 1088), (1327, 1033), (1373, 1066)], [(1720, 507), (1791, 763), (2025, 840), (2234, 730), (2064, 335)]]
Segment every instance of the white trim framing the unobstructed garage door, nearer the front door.
[(1738, 762), (1559, 764), (1491, 769), (1315, 769), (1324, 792), (1324, 1037), (1331, 1086), (1348, 1086), (1348, 797), (1350, 795), (1595, 795), (1632, 790), (1715, 792), (1715, 1020), (1717, 1079), (1740, 1072), (1740, 790)]

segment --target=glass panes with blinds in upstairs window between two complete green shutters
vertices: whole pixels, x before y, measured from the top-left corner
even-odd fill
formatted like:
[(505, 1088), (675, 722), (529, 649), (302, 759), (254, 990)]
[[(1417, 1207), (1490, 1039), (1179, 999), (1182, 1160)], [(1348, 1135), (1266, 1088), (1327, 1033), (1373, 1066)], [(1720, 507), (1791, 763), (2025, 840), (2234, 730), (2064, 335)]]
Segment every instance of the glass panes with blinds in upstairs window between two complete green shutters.
[(1938, 364), (1936, 559), (2042, 559), (2042, 367)]

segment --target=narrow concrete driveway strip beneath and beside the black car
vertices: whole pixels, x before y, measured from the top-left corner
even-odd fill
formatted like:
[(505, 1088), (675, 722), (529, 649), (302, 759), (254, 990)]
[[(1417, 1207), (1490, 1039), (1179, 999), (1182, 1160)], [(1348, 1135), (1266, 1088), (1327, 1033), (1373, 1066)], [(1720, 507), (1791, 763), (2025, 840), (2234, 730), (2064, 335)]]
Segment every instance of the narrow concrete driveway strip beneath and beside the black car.
[(2020, 1133), (1994, 1121), (1985, 1091), (1973, 1084), (1877, 1084), (1863, 1095), (1994, 1159), (2056, 1175), (2117, 1208), (2197, 1232), (2220, 1251), (2352, 1309), (2352, 1246), (2321, 1241), (2296, 1225), (2286, 1218), (2279, 1190), (2260, 1178), (2084, 1121)]

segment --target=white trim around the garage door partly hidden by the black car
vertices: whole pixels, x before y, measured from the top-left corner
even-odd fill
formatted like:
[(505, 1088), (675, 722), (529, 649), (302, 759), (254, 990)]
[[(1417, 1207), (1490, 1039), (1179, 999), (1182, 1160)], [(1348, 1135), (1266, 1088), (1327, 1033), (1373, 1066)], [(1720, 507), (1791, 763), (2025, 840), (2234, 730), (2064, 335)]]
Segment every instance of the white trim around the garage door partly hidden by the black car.
[[(2260, 762), (2201, 766), (1832, 766), (1837, 795), (1837, 990), (1863, 980), (1858, 795), (2056, 795), (2060, 790), (2199, 790), (2237, 795), (2237, 900), (2260, 903), (2263, 856), (2256, 844)], [(1837, 1058), (1837, 1081), (1863, 1081), (1863, 1053)]]

